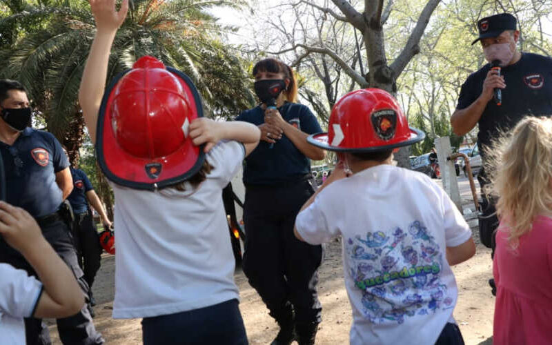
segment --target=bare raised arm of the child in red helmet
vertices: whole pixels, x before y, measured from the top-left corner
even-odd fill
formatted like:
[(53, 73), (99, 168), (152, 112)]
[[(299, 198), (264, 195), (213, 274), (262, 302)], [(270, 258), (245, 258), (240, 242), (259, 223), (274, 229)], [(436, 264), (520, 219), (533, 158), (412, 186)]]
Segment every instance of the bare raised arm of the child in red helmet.
[(123, 0), (119, 11), (115, 10), (115, 0), (90, 0), (90, 8), (97, 31), (81, 79), (79, 102), (88, 134), (92, 143), (95, 143), (98, 111), (106, 88), (111, 45), (117, 29), (126, 18), (128, 0)]

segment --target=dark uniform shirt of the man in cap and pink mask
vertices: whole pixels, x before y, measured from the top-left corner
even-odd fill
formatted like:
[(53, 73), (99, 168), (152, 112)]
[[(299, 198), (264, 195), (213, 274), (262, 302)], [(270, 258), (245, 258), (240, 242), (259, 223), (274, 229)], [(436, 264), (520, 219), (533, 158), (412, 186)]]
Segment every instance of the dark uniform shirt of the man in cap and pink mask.
[[(464, 109), (481, 95), (483, 81), (491, 64), (473, 72), (460, 90), (457, 109)], [(552, 59), (524, 52), (520, 61), (503, 67), (506, 88), (502, 89), (502, 105), (491, 99), (479, 120), (477, 139), (480, 152), (500, 132), (513, 128), (526, 115), (552, 115)]]

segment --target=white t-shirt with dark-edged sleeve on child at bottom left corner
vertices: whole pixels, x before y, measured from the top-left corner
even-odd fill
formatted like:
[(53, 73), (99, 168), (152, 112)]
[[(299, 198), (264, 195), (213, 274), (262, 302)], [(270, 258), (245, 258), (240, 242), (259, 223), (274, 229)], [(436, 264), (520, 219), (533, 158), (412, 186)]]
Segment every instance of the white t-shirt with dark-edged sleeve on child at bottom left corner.
[(30, 317), (42, 283), (24, 270), (0, 264), (0, 344), (25, 344), (23, 317)]

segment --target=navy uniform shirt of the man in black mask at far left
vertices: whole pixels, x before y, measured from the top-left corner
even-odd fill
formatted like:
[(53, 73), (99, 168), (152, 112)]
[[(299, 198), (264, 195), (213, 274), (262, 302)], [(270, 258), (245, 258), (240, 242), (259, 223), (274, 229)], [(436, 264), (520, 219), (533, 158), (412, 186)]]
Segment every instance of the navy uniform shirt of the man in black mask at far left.
[(59, 141), (28, 127), (12, 146), (0, 141), (0, 153), (6, 170), (6, 201), (33, 217), (57, 211), (63, 194), (55, 174), (69, 166)]

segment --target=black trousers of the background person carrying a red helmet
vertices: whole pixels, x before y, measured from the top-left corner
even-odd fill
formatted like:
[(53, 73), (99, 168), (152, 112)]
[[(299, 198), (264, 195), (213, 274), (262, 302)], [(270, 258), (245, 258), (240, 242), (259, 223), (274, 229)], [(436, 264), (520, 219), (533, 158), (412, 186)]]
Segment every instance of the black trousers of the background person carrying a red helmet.
[(84, 280), (92, 290), (92, 284), (101, 264), (99, 235), (89, 212), (75, 215), (75, 246)]

